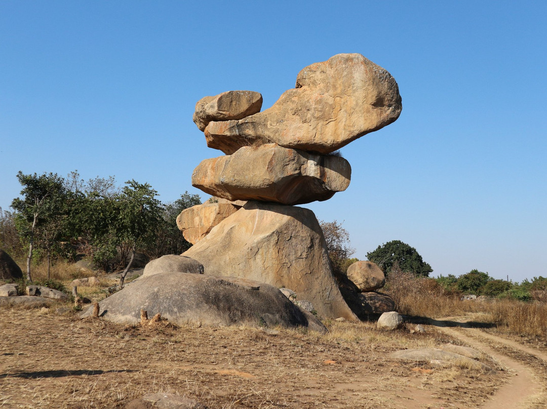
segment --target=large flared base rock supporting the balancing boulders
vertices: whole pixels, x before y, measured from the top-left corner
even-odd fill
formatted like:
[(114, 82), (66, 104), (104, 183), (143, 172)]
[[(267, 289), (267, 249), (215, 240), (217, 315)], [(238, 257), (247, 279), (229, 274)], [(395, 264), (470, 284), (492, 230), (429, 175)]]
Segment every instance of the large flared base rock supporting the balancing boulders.
[(330, 269), (327, 244), (309, 209), (247, 202), (183, 255), (208, 274), (290, 288), (319, 315), (357, 320)]

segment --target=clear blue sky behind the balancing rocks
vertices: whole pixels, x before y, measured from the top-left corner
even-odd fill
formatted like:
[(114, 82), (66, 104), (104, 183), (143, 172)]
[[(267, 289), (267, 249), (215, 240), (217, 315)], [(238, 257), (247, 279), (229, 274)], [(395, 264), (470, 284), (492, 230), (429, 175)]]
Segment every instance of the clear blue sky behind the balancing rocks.
[(200, 193), (193, 168), (222, 153), (197, 100), (253, 90), (267, 108), (300, 69), (359, 52), (395, 77), (403, 112), (342, 149), (345, 192), (305, 206), (345, 220), (359, 259), (399, 239), (433, 276), (545, 277), (546, 4), (3, 0), (0, 206), (19, 170)]

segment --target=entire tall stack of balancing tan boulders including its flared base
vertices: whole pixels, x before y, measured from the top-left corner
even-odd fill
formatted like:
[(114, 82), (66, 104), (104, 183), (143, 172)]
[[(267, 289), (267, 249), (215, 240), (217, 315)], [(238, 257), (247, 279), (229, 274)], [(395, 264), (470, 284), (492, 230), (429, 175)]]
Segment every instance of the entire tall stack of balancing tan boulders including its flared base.
[(355, 320), (315, 215), (294, 205), (347, 188), (350, 163), (335, 151), (399, 117), (397, 83), (360, 54), (339, 54), (302, 69), (271, 108), (260, 112), (261, 104), (253, 91), (197, 102), (195, 124), (225, 155), (192, 174), (192, 184), (214, 197), (179, 215), (194, 244), (183, 255), (206, 274), (289, 288), (323, 317)]

